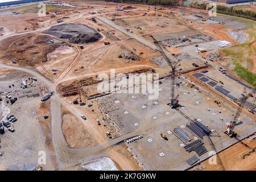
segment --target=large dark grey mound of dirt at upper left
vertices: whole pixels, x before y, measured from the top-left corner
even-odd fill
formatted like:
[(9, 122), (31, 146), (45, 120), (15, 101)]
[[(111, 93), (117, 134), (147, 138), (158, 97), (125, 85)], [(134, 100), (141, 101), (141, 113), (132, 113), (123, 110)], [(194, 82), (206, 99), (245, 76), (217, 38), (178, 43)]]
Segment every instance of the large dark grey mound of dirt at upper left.
[(76, 44), (96, 42), (102, 38), (96, 30), (81, 23), (52, 26), (49, 30), (44, 31), (44, 33), (54, 35), (60, 39), (69, 39), (69, 42)]

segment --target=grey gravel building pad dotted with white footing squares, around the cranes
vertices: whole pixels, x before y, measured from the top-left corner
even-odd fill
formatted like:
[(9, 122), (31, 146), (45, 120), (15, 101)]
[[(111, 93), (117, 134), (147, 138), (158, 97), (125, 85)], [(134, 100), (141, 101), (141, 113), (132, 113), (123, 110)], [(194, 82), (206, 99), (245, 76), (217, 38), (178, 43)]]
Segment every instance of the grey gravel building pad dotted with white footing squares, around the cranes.
[[(167, 79), (162, 82), (163, 84), (159, 88), (163, 90), (159, 91), (159, 98), (156, 100), (148, 100), (147, 96), (143, 96), (143, 94), (117, 93), (105, 96), (105, 98), (100, 99), (100, 102), (105, 107), (112, 102), (113, 106), (106, 107), (106, 110), (109, 110), (108, 114), (121, 130), (121, 134), (141, 131), (140, 134), (143, 135), (143, 138), (129, 143), (128, 146), (137, 155), (145, 169), (184, 170), (189, 167), (186, 160), (195, 154), (186, 152), (180, 146), (183, 142), (177, 139), (174, 134), (168, 134), (167, 131), (172, 131), (178, 126), (185, 126), (188, 120), (167, 105), (168, 95), (166, 96), (165, 93), (169, 92), (170, 80)], [(236, 139), (229, 138), (228, 135), (224, 134), (227, 123), (233, 117), (231, 113), (234, 113), (236, 109), (226, 103), (224, 104), (224, 102), (222, 102), (221, 107), (217, 106), (213, 102), (216, 96), (204, 90), (190, 88), (188, 80), (184, 78), (180, 78), (177, 82), (183, 82), (179, 88), (176, 87), (176, 94), (180, 95), (180, 105), (184, 107), (181, 107), (180, 110), (191, 119), (201, 119), (201, 122), (207, 125), (209, 129), (214, 130), (211, 137), (204, 137), (204, 145), (207, 150), (220, 151), (237, 142)], [(136, 98), (132, 98), (132, 96)], [(158, 104), (155, 105), (155, 101)], [(146, 108), (143, 109), (142, 106), (146, 106)], [(241, 114), (240, 118), (243, 123), (236, 127), (240, 138), (254, 133), (256, 125), (254, 120), (244, 114)], [(185, 130), (189, 133), (189, 130)], [(160, 133), (166, 134), (168, 141), (160, 137)], [(192, 140), (193, 137), (195, 136), (191, 135)], [(148, 139), (152, 139), (152, 142), (148, 142)], [(210, 140), (214, 146), (210, 145)], [(160, 152), (164, 152), (165, 156), (160, 157)], [(208, 153), (199, 158), (200, 160), (208, 158)]]

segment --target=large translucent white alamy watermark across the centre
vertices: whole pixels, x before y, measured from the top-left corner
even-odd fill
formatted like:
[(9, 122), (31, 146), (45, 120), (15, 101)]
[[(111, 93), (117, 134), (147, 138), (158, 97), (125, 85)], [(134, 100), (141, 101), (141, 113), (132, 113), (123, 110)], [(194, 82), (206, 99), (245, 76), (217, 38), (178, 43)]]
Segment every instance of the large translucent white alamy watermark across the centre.
[(159, 96), (159, 75), (157, 73), (140, 73), (115, 75), (115, 69), (110, 69), (110, 76), (107, 73), (100, 73), (98, 80), (102, 80), (98, 86), (98, 93), (142, 93), (148, 96), (149, 100), (155, 100)]

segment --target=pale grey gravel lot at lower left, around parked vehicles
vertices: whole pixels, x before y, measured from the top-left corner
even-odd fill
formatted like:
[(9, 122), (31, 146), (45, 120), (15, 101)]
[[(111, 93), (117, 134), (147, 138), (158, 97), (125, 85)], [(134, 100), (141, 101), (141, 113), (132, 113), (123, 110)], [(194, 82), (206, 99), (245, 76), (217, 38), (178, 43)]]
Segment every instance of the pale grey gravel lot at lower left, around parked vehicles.
[[(16, 91), (22, 94), (18, 83), (27, 77), (31, 77), (31, 75), (17, 71), (7, 73), (5, 77), (0, 77), (0, 89), (4, 92), (11, 92), (13, 97), (16, 96)], [(10, 82), (14, 84), (12, 88), (8, 86)], [(40, 87), (43, 84), (38, 82), (37, 86)], [(1, 119), (3, 115), (10, 114), (13, 114), (17, 119), (16, 122), (11, 123), (11, 127), (15, 129), (14, 133), (11, 133), (5, 127), (5, 134), (1, 135), (2, 156), (0, 165), (5, 170), (34, 170), (38, 166), (39, 151), (46, 154), (47, 163), (44, 168), (47, 170), (54, 169), (46, 146), (45, 134), (39, 123), (39, 120), (42, 119), (39, 117), (42, 117), (42, 114), (35, 107), (40, 102), (40, 97), (20, 98), (13, 105), (6, 104), (5, 100), (2, 101), (1, 106), (2, 109), (5, 108), (5, 114), (1, 110)]]

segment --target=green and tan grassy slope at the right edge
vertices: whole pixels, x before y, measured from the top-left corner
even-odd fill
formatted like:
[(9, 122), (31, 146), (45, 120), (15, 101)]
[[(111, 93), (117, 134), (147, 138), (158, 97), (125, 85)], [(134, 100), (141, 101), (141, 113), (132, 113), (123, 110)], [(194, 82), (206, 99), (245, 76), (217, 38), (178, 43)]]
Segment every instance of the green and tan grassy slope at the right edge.
[(256, 74), (251, 72), (256, 67), (254, 65), (256, 57), (256, 46), (254, 45), (256, 44), (256, 26), (249, 28), (246, 32), (250, 35), (250, 39), (246, 43), (224, 48), (221, 51), (235, 60), (233, 64), (237, 75), (249, 84), (256, 86)]

